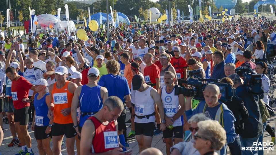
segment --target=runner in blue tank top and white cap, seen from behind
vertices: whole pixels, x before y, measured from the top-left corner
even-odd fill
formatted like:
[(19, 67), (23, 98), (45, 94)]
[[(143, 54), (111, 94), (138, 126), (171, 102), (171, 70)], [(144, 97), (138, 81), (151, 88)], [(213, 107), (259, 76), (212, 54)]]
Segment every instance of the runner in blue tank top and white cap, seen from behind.
[[(103, 107), (103, 102), (108, 98), (107, 89), (97, 85), (99, 74), (100, 72), (97, 68), (90, 68), (87, 73), (88, 84), (78, 87), (74, 93), (71, 115), (79, 139), (81, 139), (81, 127), (84, 122), (87, 118), (97, 113)], [(80, 107), (81, 114), (79, 124), (77, 120), (78, 107)]]

